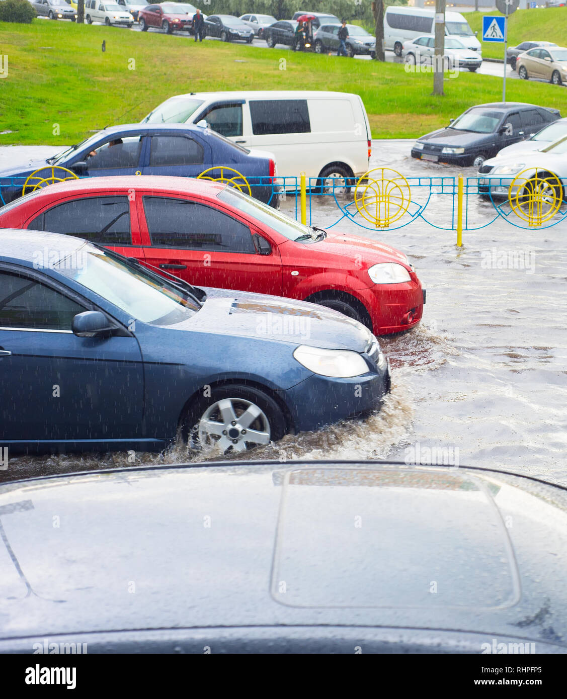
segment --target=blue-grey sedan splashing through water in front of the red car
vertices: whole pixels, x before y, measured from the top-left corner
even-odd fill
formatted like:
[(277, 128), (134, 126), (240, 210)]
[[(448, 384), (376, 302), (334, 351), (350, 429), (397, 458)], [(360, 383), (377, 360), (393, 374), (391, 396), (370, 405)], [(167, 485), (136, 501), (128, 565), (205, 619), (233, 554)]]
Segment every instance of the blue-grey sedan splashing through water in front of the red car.
[(389, 390), (378, 340), (336, 311), (195, 288), (73, 236), (0, 231), (0, 299), (10, 454), (160, 451), (178, 429), (242, 452), (379, 410)]

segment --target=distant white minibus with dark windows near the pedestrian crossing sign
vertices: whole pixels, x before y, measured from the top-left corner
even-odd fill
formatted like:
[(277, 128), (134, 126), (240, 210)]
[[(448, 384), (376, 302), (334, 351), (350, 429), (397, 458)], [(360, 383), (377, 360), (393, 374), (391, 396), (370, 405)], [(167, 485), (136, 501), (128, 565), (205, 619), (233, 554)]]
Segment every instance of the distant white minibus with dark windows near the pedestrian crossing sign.
[[(394, 6), (387, 8), (384, 15), (384, 48), (401, 56), (404, 41), (422, 34), (435, 34), (434, 22), (435, 10)], [(480, 41), (461, 13), (445, 13), (445, 34), (458, 37), (466, 48), (480, 54)]]

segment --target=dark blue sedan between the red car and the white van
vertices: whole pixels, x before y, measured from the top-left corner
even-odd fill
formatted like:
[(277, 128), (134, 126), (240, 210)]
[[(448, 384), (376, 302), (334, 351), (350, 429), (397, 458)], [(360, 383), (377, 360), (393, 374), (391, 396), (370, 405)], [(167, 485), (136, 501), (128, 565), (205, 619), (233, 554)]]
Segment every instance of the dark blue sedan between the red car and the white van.
[[(25, 180), (39, 170), (29, 189), (49, 177), (52, 166), (63, 177), (71, 170), (82, 178), (103, 175), (176, 175), (197, 177), (209, 168), (207, 177), (220, 177), (220, 167), (233, 168), (250, 183), (252, 194), (280, 206), (280, 187), (273, 154), (247, 150), (215, 131), (189, 124), (123, 124), (89, 136), (79, 145), (66, 148), (48, 160), (33, 161), (22, 169), (0, 171), (0, 194), (8, 202), (22, 195)], [(225, 175), (226, 175), (225, 171)], [(57, 175), (56, 175), (57, 176)], [(234, 173), (229, 173), (234, 178)], [(244, 185), (238, 178), (236, 182)]]

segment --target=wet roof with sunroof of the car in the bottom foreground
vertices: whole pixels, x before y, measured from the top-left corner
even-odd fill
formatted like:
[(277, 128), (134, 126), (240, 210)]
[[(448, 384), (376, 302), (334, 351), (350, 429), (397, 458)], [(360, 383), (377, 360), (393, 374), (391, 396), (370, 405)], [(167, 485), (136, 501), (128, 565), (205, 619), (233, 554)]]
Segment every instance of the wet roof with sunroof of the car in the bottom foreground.
[[(0, 513), (0, 651), (57, 633), (301, 625), (458, 629), (478, 634), (478, 653), (502, 636), (567, 649), (565, 493), (519, 477), (126, 468), (5, 484)], [(53, 513), (62, 524), (46, 528)]]

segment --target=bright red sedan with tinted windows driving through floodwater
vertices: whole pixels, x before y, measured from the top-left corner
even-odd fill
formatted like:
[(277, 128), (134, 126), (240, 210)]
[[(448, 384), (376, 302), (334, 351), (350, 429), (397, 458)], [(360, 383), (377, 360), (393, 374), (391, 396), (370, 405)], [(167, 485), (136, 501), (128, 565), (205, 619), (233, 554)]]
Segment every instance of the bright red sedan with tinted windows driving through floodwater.
[(219, 182), (144, 175), (59, 182), (0, 208), (0, 227), (79, 236), (196, 286), (320, 303), (375, 335), (422, 318), (425, 292), (405, 254), (304, 226)]

